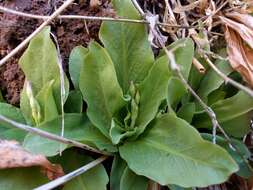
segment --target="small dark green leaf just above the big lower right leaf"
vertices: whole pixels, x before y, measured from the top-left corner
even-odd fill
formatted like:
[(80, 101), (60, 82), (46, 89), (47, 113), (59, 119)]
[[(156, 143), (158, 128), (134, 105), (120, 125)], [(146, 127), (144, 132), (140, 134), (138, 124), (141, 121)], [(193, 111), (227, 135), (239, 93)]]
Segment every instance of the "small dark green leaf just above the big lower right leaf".
[(189, 102), (189, 103), (182, 105), (179, 108), (179, 110), (177, 112), (177, 116), (184, 119), (188, 123), (191, 123), (194, 112), (195, 112), (195, 103)]

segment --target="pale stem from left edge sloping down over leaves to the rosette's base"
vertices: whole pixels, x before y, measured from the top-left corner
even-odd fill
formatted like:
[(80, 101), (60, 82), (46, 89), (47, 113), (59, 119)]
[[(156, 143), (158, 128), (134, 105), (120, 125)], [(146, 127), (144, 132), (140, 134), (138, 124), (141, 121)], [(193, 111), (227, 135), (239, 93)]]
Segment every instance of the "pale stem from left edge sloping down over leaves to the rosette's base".
[(99, 153), (99, 154), (103, 154), (103, 155), (109, 155), (106, 152), (99, 151), (99, 150), (97, 150), (93, 147), (90, 147), (90, 146), (86, 145), (86, 144), (83, 144), (83, 143), (80, 143), (80, 142), (77, 142), (77, 141), (74, 141), (74, 140), (70, 140), (70, 139), (67, 139), (67, 138), (63, 138), (63, 137), (57, 136), (55, 134), (43, 131), (41, 129), (31, 127), (29, 125), (25, 125), (25, 124), (22, 124), (22, 123), (15, 122), (11, 119), (8, 119), (8, 118), (4, 117), (3, 115), (0, 115), (0, 121), (8, 123), (8, 124), (10, 124), (11, 126), (13, 126), (15, 128), (30, 132), (30, 133), (35, 134), (35, 135), (39, 135), (41, 137), (44, 137), (44, 138), (47, 138), (47, 139), (50, 139), (50, 140), (53, 140), (53, 141), (57, 141), (57, 142), (67, 144), (67, 145), (70, 145), (70, 146), (75, 146), (75, 147), (78, 147), (78, 148), (82, 148), (82, 149), (85, 149), (85, 150), (88, 150), (88, 151), (91, 151), (91, 152), (95, 152), (95, 153)]

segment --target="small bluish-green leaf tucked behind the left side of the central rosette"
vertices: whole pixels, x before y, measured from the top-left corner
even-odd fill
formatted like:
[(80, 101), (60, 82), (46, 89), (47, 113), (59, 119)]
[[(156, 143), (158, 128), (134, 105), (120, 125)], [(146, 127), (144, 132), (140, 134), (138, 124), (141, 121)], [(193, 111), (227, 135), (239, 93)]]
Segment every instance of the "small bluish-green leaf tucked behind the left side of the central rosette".
[(84, 58), (87, 53), (87, 48), (77, 46), (71, 51), (69, 56), (69, 74), (76, 90), (79, 89), (81, 66), (84, 63)]

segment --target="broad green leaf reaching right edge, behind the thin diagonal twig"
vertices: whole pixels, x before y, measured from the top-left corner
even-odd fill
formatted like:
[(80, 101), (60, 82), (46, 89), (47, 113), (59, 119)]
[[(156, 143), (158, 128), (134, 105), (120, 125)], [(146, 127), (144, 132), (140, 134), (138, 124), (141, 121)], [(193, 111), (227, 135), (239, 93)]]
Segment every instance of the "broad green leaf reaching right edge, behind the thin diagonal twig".
[[(253, 110), (253, 98), (244, 92), (216, 102), (211, 106), (220, 125), (235, 137), (242, 137), (250, 130), (250, 120)], [(194, 116), (193, 125), (197, 128), (212, 128), (210, 118), (205, 112)]]

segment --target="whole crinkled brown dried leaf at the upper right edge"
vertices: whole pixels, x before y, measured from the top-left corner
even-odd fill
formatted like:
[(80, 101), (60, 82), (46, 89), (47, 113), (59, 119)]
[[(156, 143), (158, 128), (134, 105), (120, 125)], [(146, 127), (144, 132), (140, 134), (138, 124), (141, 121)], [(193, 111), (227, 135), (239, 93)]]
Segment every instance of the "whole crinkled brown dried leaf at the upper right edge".
[(253, 87), (253, 17), (237, 12), (220, 17), (225, 24), (225, 38), (231, 66)]

